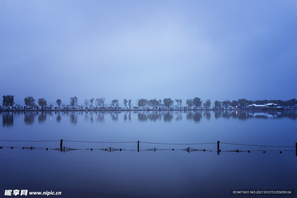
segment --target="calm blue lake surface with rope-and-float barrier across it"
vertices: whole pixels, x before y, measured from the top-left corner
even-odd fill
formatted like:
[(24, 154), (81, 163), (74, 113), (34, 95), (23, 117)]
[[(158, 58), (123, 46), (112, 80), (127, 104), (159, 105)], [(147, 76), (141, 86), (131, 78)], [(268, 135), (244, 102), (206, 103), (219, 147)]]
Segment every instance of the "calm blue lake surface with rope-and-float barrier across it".
[(296, 189), (296, 110), (2, 111), (0, 117), (1, 194), (296, 197), (230, 195)]

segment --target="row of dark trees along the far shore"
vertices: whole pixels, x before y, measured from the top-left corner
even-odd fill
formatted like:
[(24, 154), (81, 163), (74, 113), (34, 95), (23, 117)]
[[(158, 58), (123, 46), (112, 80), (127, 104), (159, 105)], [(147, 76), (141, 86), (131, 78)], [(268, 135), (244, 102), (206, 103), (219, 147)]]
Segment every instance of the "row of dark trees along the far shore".
[(37, 103), (32, 96), (27, 96), (24, 99), (24, 106), (16, 104), (14, 102), (14, 95), (4, 95), (2, 96), (3, 102), (0, 110), (181, 110), (181, 109), (202, 109), (202, 110), (213, 110), (213, 109), (235, 109), (242, 107), (243, 109), (249, 104), (267, 104), (274, 103), (279, 107), (289, 107), (295, 109), (297, 106), (296, 99), (290, 100), (247, 100), (245, 98), (229, 101), (228, 99), (224, 101), (215, 101), (211, 103), (210, 99), (201, 100), (198, 97), (194, 99), (187, 99), (183, 106), (182, 99), (171, 98), (165, 99), (137, 99), (132, 103), (131, 99), (124, 99), (124, 108), (119, 106), (119, 100), (113, 99), (109, 104), (106, 104), (105, 97), (102, 98), (91, 98), (85, 99), (84, 105), (78, 105), (78, 98), (76, 96), (69, 98), (69, 103), (62, 103), (61, 99), (57, 99), (53, 104), (49, 104), (44, 98), (39, 98)]

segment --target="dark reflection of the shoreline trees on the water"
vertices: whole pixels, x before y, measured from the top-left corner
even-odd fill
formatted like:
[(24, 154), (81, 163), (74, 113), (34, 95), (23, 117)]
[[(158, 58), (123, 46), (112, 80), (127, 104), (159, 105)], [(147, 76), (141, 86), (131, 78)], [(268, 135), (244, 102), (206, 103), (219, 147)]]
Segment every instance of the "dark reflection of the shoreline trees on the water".
[(132, 116), (137, 117), (138, 121), (147, 122), (147, 121), (164, 121), (171, 122), (173, 119), (175, 121), (181, 121), (183, 116), (186, 115), (186, 119), (188, 121), (200, 122), (202, 118), (207, 120), (211, 119), (211, 113), (213, 113), (213, 117), (215, 119), (225, 118), (225, 119), (239, 119), (239, 120), (247, 120), (249, 118), (290, 118), (292, 120), (297, 119), (296, 110), (292, 111), (251, 111), (251, 110), (240, 110), (240, 111), (230, 111), (230, 110), (197, 110), (197, 111), (89, 111), (89, 112), (81, 112), (81, 111), (57, 111), (57, 112), (38, 112), (38, 111), (28, 111), (28, 112), (1, 112), (2, 115), (2, 123), (4, 127), (13, 126), (13, 121), (15, 116), (24, 116), (25, 125), (33, 125), (35, 123), (35, 119), (37, 117), (37, 121), (39, 124), (42, 124), (46, 121), (47, 116), (56, 116), (56, 122), (60, 123), (62, 117), (69, 116), (71, 124), (78, 123), (78, 115), (85, 114), (85, 121), (90, 121), (91, 123), (101, 122), (104, 123), (104, 115), (110, 114), (110, 118), (113, 121), (118, 121), (123, 114), (124, 122), (131, 121)]

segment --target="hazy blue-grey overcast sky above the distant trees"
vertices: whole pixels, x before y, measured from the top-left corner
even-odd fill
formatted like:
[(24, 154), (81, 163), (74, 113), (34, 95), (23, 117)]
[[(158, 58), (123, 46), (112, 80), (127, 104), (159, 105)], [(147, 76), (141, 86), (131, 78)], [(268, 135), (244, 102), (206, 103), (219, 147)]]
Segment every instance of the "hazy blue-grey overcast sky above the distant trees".
[(0, 94), (296, 98), (297, 1), (0, 0)]

